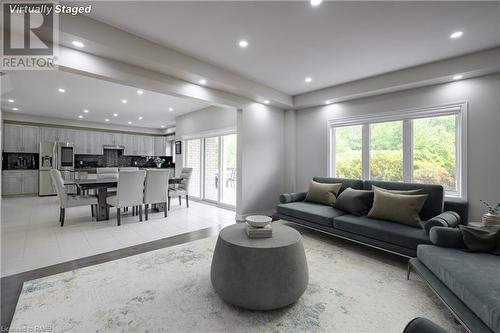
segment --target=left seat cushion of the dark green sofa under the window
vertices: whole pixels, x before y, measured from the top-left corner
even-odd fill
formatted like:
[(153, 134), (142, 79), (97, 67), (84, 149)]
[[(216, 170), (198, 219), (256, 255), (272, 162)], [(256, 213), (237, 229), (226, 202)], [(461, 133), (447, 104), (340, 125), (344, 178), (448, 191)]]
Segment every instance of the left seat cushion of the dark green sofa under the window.
[(276, 210), (280, 214), (314, 222), (326, 227), (333, 226), (334, 217), (346, 214), (344, 211), (335, 209), (332, 206), (306, 201), (279, 204)]

